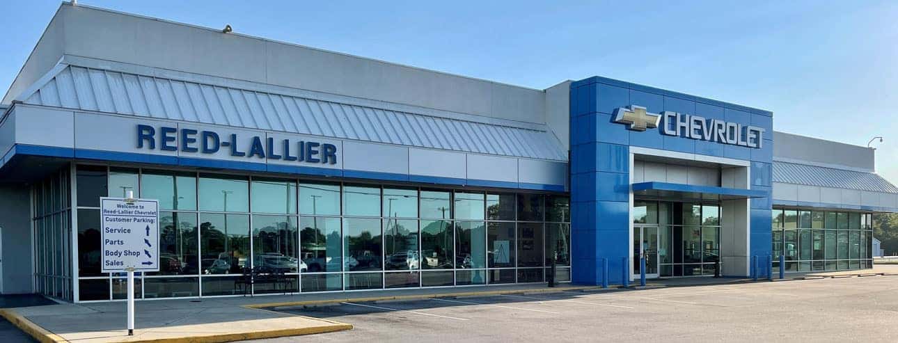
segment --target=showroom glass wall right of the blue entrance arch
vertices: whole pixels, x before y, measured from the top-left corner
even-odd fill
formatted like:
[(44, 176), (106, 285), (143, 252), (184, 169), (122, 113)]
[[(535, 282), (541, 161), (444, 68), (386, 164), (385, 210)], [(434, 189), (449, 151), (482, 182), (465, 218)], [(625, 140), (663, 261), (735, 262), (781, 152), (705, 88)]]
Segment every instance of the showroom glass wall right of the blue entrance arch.
[(773, 268), (786, 271), (872, 268), (873, 215), (773, 209)]

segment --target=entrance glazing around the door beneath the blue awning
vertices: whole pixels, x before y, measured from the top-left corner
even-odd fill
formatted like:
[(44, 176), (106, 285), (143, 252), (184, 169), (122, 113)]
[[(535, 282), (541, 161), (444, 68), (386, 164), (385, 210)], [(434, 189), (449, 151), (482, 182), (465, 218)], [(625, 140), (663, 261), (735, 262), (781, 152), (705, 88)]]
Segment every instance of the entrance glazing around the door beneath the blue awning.
[(717, 203), (636, 200), (633, 224), (658, 227), (660, 276), (714, 275), (720, 259)]

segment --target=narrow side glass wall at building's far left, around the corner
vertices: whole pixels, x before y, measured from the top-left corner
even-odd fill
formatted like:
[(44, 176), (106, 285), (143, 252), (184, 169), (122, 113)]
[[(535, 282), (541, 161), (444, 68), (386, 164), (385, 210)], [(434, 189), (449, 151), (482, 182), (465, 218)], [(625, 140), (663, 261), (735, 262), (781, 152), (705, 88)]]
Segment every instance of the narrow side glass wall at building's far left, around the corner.
[(71, 190), (69, 167), (31, 185), (34, 289), (72, 300)]

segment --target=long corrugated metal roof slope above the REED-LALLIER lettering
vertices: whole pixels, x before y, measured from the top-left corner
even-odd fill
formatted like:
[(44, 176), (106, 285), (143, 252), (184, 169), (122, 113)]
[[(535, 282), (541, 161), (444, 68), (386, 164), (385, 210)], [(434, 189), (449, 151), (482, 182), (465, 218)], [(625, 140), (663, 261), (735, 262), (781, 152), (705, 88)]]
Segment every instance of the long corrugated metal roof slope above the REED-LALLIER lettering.
[(26, 102), (305, 135), (565, 161), (545, 130), (490, 125), (80, 66), (62, 68)]

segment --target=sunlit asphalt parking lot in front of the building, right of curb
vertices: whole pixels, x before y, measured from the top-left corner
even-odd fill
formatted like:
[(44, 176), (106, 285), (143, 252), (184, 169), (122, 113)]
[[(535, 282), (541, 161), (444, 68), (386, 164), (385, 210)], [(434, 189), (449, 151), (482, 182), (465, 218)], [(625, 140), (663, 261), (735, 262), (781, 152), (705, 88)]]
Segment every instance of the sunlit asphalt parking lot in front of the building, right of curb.
[(277, 311), (354, 330), (302, 341), (894, 341), (898, 277), (339, 303)]

